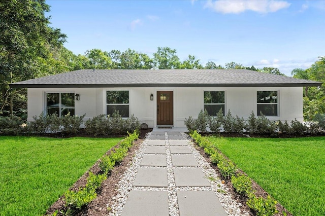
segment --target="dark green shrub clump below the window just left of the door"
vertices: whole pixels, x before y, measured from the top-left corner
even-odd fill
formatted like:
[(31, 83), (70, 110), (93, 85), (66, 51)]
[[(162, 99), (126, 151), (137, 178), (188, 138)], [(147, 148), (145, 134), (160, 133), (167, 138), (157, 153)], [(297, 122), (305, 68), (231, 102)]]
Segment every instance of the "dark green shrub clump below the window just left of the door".
[(85, 123), (86, 133), (98, 135), (118, 135), (126, 134), (127, 131), (135, 132), (140, 129), (138, 118), (134, 115), (127, 119), (122, 119), (118, 111), (115, 111), (112, 116), (99, 115), (92, 119), (88, 119)]

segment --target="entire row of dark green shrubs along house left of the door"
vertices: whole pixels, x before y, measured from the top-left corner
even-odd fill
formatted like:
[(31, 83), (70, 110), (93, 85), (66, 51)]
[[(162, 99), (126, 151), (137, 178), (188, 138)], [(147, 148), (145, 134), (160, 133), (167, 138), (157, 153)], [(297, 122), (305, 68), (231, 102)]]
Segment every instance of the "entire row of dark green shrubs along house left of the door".
[[(24, 124), (16, 116), (0, 117), (0, 135), (19, 135), (19, 134), (44, 134), (44, 133), (63, 133), (76, 134), (80, 132), (83, 122), (82, 116), (62, 116), (56, 114), (44, 115), (42, 112), (38, 117), (34, 116), (34, 121)], [(85, 131), (94, 136), (98, 135), (117, 135), (126, 134), (127, 131), (134, 132), (139, 130), (140, 123), (138, 118), (132, 115), (128, 119), (122, 119), (118, 111), (112, 116), (99, 115), (85, 122)]]

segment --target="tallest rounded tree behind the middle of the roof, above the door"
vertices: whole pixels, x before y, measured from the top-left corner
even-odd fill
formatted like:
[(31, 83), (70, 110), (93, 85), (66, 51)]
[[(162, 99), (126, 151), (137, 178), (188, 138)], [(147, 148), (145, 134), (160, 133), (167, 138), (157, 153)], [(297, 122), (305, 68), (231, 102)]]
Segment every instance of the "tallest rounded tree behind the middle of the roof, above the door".
[(153, 64), (158, 69), (177, 69), (180, 61), (176, 55), (176, 50), (169, 47), (158, 47), (157, 52), (153, 53)]

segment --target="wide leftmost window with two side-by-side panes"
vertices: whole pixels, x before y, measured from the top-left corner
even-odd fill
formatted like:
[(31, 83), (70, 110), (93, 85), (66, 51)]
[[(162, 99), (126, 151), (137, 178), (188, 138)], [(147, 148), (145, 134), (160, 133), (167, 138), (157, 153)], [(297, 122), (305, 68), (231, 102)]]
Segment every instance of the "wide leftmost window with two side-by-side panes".
[(46, 114), (58, 116), (75, 115), (74, 93), (46, 93)]

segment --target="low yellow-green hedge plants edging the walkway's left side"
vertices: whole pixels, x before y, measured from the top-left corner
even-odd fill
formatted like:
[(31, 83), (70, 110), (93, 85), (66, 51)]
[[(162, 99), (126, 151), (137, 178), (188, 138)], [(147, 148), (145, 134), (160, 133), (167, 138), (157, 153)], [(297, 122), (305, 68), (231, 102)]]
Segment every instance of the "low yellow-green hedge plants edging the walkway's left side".
[(133, 141), (138, 139), (138, 137), (139, 133), (136, 131), (132, 134), (128, 133), (128, 136), (120, 142), (119, 148), (112, 151), (110, 155), (101, 158), (100, 168), (102, 174), (95, 175), (92, 172), (89, 172), (86, 187), (82, 189), (79, 188), (78, 191), (68, 190), (64, 194), (66, 206), (71, 213), (76, 209), (81, 209), (88, 205), (89, 202), (97, 197), (97, 192), (101, 187), (102, 182), (107, 179), (107, 176), (110, 174), (110, 171), (114, 168), (115, 164), (120, 163), (123, 160), (127, 155), (128, 150), (132, 147)]

